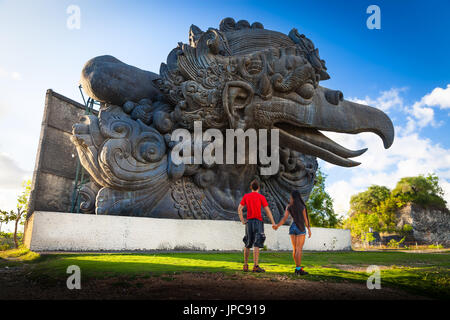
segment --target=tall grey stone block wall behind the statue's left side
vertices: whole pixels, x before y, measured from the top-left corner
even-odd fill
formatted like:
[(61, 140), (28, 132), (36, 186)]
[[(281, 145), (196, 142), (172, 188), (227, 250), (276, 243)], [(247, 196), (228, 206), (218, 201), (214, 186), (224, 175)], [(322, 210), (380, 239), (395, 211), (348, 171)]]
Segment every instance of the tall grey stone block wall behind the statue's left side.
[(70, 210), (78, 157), (70, 136), (84, 113), (84, 105), (47, 90), (28, 217)]

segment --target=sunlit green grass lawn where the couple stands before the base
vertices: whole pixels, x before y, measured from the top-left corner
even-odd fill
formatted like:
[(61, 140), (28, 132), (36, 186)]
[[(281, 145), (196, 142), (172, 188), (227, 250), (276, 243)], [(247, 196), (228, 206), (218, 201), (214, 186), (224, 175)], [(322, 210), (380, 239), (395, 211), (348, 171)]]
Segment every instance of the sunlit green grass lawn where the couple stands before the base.
[[(8, 259), (8, 260), (6, 260)], [(149, 277), (181, 272), (241, 274), (242, 253), (105, 253), (39, 255), (22, 250), (0, 252), (0, 267), (26, 264), (31, 276), (51, 281), (67, 277), (69, 265), (81, 268), (83, 277)], [(266, 274), (292, 276), (288, 252), (262, 252), (260, 264)], [(401, 288), (418, 295), (450, 298), (450, 254), (409, 252), (306, 252), (303, 265), (312, 281), (355, 281), (365, 283), (369, 265), (381, 269), (382, 286)]]

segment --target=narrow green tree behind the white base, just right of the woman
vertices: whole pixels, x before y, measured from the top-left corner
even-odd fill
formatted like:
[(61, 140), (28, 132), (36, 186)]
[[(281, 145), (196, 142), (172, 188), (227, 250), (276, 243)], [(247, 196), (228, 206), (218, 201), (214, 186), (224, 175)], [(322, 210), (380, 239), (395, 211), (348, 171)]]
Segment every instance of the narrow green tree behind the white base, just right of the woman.
[(325, 190), (325, 179), (326, 175), (319, 168), (306, 206), (312, 226), (335, 228), (339, 225), (340, 220), (334, 212), (333, 199)]

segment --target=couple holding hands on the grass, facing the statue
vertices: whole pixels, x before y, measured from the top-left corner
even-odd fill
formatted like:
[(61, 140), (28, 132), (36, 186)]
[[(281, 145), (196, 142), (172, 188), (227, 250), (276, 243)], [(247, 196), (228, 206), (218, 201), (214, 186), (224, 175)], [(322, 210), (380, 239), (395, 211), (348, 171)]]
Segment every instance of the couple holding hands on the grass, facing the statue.
[[(269, 204), (266, 198), (259, 193), (259, 183), (254, 180), (250, 184), (250, 189), (252, 192), (247, 193), (242, 198), (239, 207), (238, 214), (241, 222), (245, 224), (245, 236), (244, 236), (244, 272), (249, 271), (248, 269), (248, 258), (250, 256), (250, 249), (253, 247), (253, 272), (265, 272), (258, 264), (259, 261), (259, 249), (264, 247), (264, 241), (266, 236), (264, 235), (264, 223), (261, 215), (261, 208), (264, 208), (267, 216), (272, 222), (272, 228), (277, 230), (282, 226), (289, 215), (292, 217), (293, 222), (289, 228), (289, 235), (292, 241), (292, 256), (295, 262), (295, 274), (296, 275), (306, 275), (308, 272), (303, 270), (301, 266), (302, 260), (302, 249), (305, 243), (306, 231), (308, 231), (308, 238), (311, 238), (311, 228), (308, 218), (308, 213), (306, 211), (306, 205), (303, 201), (300, 192), (297, 190), (292, 191), (291, 198), (286, 206), (283, 218), (275, 223), (273, 220), (272, 212), (270, 211)], [(243, 209), (247, 208), (247, 220), (244, 220)]]

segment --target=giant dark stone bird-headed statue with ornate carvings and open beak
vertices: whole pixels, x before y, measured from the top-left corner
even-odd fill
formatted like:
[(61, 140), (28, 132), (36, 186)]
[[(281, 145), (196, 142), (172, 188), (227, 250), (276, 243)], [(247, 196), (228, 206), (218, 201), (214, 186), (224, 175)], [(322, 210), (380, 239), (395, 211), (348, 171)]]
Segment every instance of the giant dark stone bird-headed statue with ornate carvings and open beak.
[[(169, 53), (159, 75), (110, 56), (91, 59), (81, 82), (102, 105), (98, 117), (74, 125), (72, 141), (101, 186), (96, 213), (237, 219), (239, 200), (257, 178), (279, 218), (292, 189), (309, 196), (316, 157), (351, 167), (359, 163), (350, 158), (366, 150), (348, 150), (320, 130), (370, 131), (386, 148), (393, 142), (390, 119), (319, 85), (329, 78), (318, 49), (296, 29), (285, 35), (232, 18), (207, 31), (192, 25), (189, 44)], [(174, 165), (170, 134), (192, 132), (196, 120), (203, 130), (279, 129), (279, 171), (261, 176), (259, 164)], [(92, 210), (91, 201), (86, 208)]]

